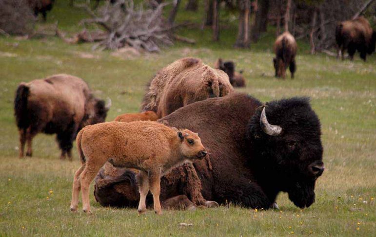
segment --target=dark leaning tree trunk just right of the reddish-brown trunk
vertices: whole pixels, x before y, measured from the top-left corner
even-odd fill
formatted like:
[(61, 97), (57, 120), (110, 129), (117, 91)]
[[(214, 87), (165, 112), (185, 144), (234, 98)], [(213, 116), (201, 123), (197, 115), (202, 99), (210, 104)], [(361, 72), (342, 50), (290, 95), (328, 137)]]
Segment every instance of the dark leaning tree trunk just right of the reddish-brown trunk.
[(257, 42), (261, 32), (266, 32), (268, 10), (269, 0), (257, 0), (256, 18), (252, 27), (252, 40), (254, 42)]

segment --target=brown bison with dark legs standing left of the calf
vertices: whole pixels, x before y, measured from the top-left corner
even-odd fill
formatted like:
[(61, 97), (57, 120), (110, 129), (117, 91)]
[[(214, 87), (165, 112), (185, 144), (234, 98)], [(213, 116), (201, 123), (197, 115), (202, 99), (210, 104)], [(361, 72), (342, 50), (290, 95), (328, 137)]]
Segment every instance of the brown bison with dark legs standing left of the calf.
[(32, 156), (32, 139), (40, 132), (57, 134), (62, 150), (68, 155), (77, 132), (89, 124), (104, 122), (110, 105), (94, 97), (79, 77), (58, 74), (45, 79), (20, 83), (14, 110), (20, 132), (20, 157), (27, 141), (27, 156)]

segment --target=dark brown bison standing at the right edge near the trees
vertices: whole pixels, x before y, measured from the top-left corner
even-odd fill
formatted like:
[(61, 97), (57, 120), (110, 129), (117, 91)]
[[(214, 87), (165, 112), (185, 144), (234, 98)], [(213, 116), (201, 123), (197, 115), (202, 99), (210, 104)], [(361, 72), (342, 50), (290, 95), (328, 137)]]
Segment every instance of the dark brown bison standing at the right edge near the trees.
[(375, 51), (376, 32), (372, 30), (370, 22), (364, 17), (346, 20), (336, 27), (336, 43), (338, 54), (341, 52), (342, 60), (347, 49), (350, 59), (353, 60), (356, 50), (360, 57), (366, 61), (367, 54)]

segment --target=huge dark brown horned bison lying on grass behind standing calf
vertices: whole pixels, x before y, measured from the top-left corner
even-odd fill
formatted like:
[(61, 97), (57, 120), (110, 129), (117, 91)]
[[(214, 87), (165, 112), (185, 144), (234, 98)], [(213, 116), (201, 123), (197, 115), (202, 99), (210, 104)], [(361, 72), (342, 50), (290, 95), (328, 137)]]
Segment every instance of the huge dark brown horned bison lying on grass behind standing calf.
[[(196, 204), (229, 201), (267, 209), (279, 192), (287, 192), (298, 207), (310, 206), (324, 170), (317, 115), (307, 98), (272, 101), (264, 108), (262, 112), (261, 102), (249, 95), (232, 93), (158, 120), (198, 132), (209, 151), (209, 157), (194, 167), (175, 168), (162, 178), (161, 200), (187, 195)], [(105, 170), (96, 178), (97, 201), (135, 206), (135, 173), (103, 174)]]

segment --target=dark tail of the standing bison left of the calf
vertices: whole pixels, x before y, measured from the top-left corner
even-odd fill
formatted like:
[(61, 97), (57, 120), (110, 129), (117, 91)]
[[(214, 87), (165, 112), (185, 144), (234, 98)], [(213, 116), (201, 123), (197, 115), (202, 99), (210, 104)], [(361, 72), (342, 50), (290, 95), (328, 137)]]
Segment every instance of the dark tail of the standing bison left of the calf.
[(30, 88), (26, 83), (20, 83), (14, 99), (14, 113), (16, 116), (17, 127), (20, 129), (26, 129), (29, 127), (30, 120), (27, 112), (27, 99), (29, 94)]

